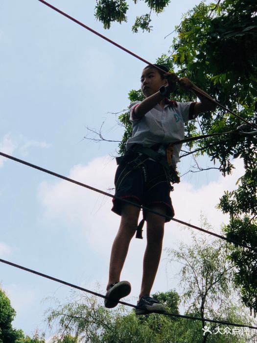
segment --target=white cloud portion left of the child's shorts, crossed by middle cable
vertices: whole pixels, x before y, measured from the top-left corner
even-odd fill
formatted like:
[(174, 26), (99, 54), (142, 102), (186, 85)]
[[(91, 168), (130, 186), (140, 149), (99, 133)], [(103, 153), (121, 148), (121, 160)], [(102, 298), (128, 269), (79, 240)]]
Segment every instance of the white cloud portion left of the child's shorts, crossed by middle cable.
[[(74, 166), (69, 177), (109, 192), (107, 189), (113, 187), (115, 170), (116, 163), (108, 156), (96, 158), (87, 166)], [(109, 197), (62, 180), (42, 182), (38, 199), (44, 206), (45, 218), (61, 221), (72, 227), (72, 231), (76, 226), (98, 252), (106, 251), (106, 241), (99, 238), (108, 236), (112, 240), (118, 225), (117, 216), (110, 211)]]

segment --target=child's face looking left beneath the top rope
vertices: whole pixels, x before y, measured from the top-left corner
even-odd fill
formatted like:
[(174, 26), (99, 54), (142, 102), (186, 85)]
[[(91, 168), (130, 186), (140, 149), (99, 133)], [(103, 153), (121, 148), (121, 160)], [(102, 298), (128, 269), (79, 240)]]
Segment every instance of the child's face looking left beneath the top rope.
[(141, 75), (141, 91), (145, 98), (158, 92), (161, 86), (167, 84), (156, 68), (143, 69)]

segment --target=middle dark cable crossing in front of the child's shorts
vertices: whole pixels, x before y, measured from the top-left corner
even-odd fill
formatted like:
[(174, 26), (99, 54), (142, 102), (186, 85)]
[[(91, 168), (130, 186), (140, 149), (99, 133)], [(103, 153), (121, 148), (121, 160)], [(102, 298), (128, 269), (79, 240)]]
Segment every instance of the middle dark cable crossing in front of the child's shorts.
[(21, 160), (21, 159), (19, 159), (19, 158), (16, 158), (16, 157), (14, 157), (14, 156), (5, 154), (5, 153), (3, 153), (3, 152), (0, 152), (0, 155), (3, 156), (3, 157), (9, 158), (10, 160), (13, 160), (13, 161), (15, 161), (15, 162), (22, 163), (22, 164), (24, 164), (24, 165), (26, 165), (26, 166), (28, 166), (28, 167), (37, 169), (37, 170), (39, 170), (39, 171), (41, 171), (41, 172), (46, 172), (47, 174), (50, 174), (50, 175), (59, 177), (59, 178), (61, 178), (61, 179), (63, 179), (63, 180), (69, 181), (69, 182), (72, 182), (72, 183), (74, 183), (74, 184), (76, 184), (76, 185), (78, 185), (78, 186), (82, 186), (82, 187), (85, 187), (85, 188), (87, 188), (87, 189), (90, 189), (90, 190), (92, 190), (92, 191), (94, 191), (94, 192), (103, 194), (104, 196), (110, 196), (110, 197), (112, 197), (112, 198), (114, 198), (114, 199), (116, 199), (116, 200), (119, 200), (119, 201), (122, 201), (122, 202), (124, 202), (124, 203), (133, 205), (133, 206), (135, 206), (135, 207), (138, 207), (138, 208), (140, 208), (141, 210), (145, 210), (145, 211), (154, 213), (154, 214), (156, 214), (156, 215), (158, 215), (158, 216), (164, 217), (164, 218), (169, 219), (169, 220), (171, 220), (171, 221), (176, 221), (176, 222), (178, 222), (178, 223), (180, 223), (180, 224), (183, 224), (183, 225), (192, 227), (193, 229), (199, 230), (199, 231), (201, 231), (201, 232), (205, 232), (205, 233), (207, 233), (207, 234), (209, 234), (209, 235), (211, 235), (211, 236), (215, 236), (215, 237), (220, 238), (220, 239), (222, 239), (222, 240), (225, 240), (225, 241), (227, 241), (227, 242), (229, 242), (229, 243), (233, 243), (234, 245), (239, 245), (239, 246), (242, 246), (242, 247), (247, 248), (247, 249), (249, 249), (249, 250), (252, 250), (252, 251), (254, 251), (254, 252), (257, 252), (257, 249), (254, 248), (254, 247), (252, 247), (252, 246), (249, 246), (249, 245), (246, 245), (246, 244), (243, 244), (243, 243), (236, 242), (236, 241), (234, 241), (234, 240), (232, 240), (232, 239), (229, 239), (229, 238), (227, 238), (227, 237), (225, 237), (225, 236), (218, 235), (217, 233), (210, 232), (210, 231), (208, 231), (208, 230), (205, 230), (205, 229), (203, 229), (203, 228), (201, 228), (201, 227), (192, 225), (192, 224), (187, 223), (187, 222), (185, 222), (185, 221), (181, 221), (181, 220), (179, 220), (179, 219), (175, 219), (175, 218), (172, 218), (172, 217), (170, 217), (170, 216), (164, 215), (164, 214), (162, 214), (162, 213), (159, 213), (159, 212), (157, 212), (157, 211), (152, 210), (151, 208), (142, 206), (142, 205), (140, 205), (140, 204), (137, 204), (137, 203), (135, 203), (135, 202), (129, 201), (129, 200), (127, 200), (127, 199), (120, 198), (120, 197), (118, 197), (118, 196), (114, 196), (114, 195), (112, 195), (112, 194), (110, 194), (110, 193), (101, 191), (101, 190), (99, 190), (99, 189), (97, 189), (97, 188), (94, 188), (94, 187), (92, 187), (92, 186), (86, 185), (85, 183), (82, 183), (82, 182), (79, 182), (79, 181), (70, 179), (69, 177), (63, 176), (63, 175), (58, 174), (58, 173), (56, 173), (56, 172), (51, 172), (51, 171), (49, 171), (49, 170), (47, 170), (47, 169), (45, 169), (45, 168), (42, 168), (42, 167), (36, 166), (36, 165), (34, 165), (34, 164), (32, 164), (32, 163), (23, 161), (23, 160)]

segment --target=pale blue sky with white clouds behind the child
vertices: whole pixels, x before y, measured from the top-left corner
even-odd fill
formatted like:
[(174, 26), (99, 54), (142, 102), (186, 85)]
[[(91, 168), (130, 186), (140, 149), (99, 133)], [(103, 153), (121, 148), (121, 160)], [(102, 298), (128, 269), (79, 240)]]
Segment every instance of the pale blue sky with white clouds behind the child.
[[(133, 20), (146, 6), (131, 2), (128, 23), (104, 30), (96, 22), (95, 1), (52, 0), (51, 3), (141, 57), (155, 62), (167, 52), (182, 13), (200, 1), (172, 1), (164, 14), (153, 15), (151, 34), (131, 32)], [(117, 143), (84, 140), (86, 127), (105, 121), (106, 138), (123, 133), (118, 112), (129, 105), (127, 94), (139, 89), (144, 64), (69, 21), (37, 0), (0, 2), (0, 151), (25, 159), (93, 187), (113, 187)], [(180, 163), (186, 172), (191, 160)], [(210, 165), (206, 159), (203, 166)], [(176, 218), (199, 224), (201, 210), (218, 229), (227, 217), (214, 206), (223, 190), (234, 187), (243, 167), (224, 179), (217, 171), (187, 174), (172, 199)], [(194, 206), (192, 206), (194, 204)], [(57, 278), (102, 290), (108, 275), (112, 241), (119, 218), (110, 211), (111, 199), (80, 189), (53, 176), (0, 158), (0, 257)], [(190, 235), (167, 224), (165, 246), (190, 242)], [(145, 240), (134, 240), (123, 277), (140, 286)], [(138, 268), (135, 269), (135, 264)], [(0, 265), (0, 282), (17, 311), (14, 326), (31, 334), (46, 330), (44, 311), (56, 296), (70, 289), (38, 276)], [(163, 260), (153, 291), (177, 287), (167, 277)], [(179, 291), (179, 290), (178, 290)], [(47, 331), (47, 337), (50, 333)]]

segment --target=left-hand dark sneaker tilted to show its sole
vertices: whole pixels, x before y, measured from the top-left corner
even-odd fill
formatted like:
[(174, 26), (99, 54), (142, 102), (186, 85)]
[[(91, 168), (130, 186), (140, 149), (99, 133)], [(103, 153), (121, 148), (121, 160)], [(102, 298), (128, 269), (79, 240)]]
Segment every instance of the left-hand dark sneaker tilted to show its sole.
[(105, 294), (105, 296), (108, 296), (108, 299), (104, 299), (104, 306), (107, 308), (117, 306), (119, 299), (130, 294), (130, 291), (131, 285), (128, 281), (120, 281), (111, 284)]

